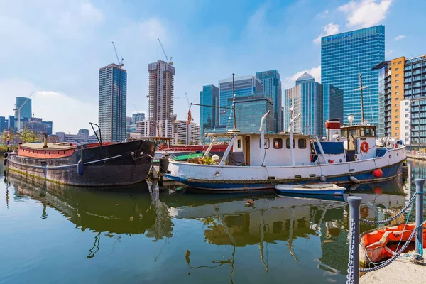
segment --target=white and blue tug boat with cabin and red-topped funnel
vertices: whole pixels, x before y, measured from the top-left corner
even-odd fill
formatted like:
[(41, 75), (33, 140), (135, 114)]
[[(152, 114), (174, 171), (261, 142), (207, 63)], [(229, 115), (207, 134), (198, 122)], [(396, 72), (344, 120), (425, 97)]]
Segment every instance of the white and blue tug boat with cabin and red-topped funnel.
[[(269, 113), (269, 112), (268, 112)], [(230, 138), (220, 163), (205, 165), (170, 161), (167, 177), (201, 190), (238, 192), (273, 190), (280, 184), (337, 185), (381, 182), (402, 174), (405, 146), (377, 147), (376, 126), (340, 126), (339, 120), (326, 121), (327, 140), (293, 133), (209, 133), (212, 143), (218, 137)]]

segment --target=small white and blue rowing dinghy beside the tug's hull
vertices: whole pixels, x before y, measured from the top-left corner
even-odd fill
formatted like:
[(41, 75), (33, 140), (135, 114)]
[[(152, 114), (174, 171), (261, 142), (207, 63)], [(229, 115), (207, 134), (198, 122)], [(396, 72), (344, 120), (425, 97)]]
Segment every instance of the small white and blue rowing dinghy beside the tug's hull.
[(343, 195), (345, 188), (332, 183), (317, 185), (275, 185), (280, 193), (300, 195)]

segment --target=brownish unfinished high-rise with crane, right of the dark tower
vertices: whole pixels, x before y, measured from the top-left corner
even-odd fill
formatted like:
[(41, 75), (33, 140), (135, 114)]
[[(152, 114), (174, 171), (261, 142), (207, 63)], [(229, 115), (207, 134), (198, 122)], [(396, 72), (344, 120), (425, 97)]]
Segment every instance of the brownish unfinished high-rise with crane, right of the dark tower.
[(148, 64), (150, 135), (173, 138), (173, 88), (175, 67), (158, 60)]

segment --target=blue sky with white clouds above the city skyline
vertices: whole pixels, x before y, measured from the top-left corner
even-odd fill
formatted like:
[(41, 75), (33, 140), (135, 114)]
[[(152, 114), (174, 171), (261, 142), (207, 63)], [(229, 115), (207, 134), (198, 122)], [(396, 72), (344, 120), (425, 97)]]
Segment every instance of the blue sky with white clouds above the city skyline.
[[(386, 58), (425, 54), (426, 2), (0, 0), (0, 116), (16, 96), (33, 95), (33, 112), (53, 131), (76, 133), (97, 121), (99, 67), (128, 72), (127, 113), (148, 109), (147, 65), (173, 56), (175, 113), (186, 119), (187, 92), (204, 84), (277, 69), (283, 90), (304, 71), (320, 80), (321, 35), (384, 24)], [(192, 109), (198, 121), (198, 109)]]

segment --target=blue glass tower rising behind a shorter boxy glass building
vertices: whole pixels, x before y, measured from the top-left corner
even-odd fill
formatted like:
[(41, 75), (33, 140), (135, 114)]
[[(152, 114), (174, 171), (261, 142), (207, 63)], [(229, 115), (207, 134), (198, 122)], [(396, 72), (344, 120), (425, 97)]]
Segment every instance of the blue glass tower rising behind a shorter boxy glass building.
[[(235, 76), (234, 78), (235, 97), (246, 97), (249, 99), (253, 94), (263, 93), (263, 84), (261, 80), (252, 75)], [(231, 108), (232, 100), (232, 77), (219, 81), (219, 104), (220, 107)], [(250, 115), (247, 113), (247, 115)], [(226, 126), (226, 129), (234, 129), (234, 118), (231, 109), (219, 109), (219, 124)], [(259, 120), (260, 125), (260, 120)], [(239, 126), (236, 125), (239, 129)]]

